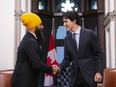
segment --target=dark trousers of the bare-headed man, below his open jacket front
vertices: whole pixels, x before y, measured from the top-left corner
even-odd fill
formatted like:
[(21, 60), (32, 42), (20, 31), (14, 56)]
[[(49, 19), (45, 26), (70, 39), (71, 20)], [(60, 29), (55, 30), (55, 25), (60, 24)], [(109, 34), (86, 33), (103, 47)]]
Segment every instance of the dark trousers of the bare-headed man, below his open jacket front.
[(78, 68), (77, 79), (73, 87), (97, 87), (97, 83), (95, 83), (94, 85), (88, 84), (82, 76), (80, 69)]

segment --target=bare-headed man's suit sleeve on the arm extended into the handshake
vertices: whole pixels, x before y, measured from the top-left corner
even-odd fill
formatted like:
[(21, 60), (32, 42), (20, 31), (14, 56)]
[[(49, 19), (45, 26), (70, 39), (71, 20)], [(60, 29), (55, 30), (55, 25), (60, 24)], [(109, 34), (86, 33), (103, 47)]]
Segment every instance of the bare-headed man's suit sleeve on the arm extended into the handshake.
[(72, 58), (71, 58), (71, 55), (67, 49), (67, 40), (65, 38), (65, 41), (64, 41), (64, 59), (62, 60), (62, 62), (59, 65), (60, 69), (63, 70), (64, 68), (69, 66), (71, 61), (72, 61)]

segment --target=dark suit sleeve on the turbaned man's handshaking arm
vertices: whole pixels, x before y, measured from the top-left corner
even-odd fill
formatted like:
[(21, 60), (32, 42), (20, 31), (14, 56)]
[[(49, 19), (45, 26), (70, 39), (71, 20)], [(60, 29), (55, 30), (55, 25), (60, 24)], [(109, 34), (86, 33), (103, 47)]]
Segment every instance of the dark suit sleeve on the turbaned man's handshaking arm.
[(34, 69), (37, 71), (42, 71), (45, 73), (52, 74), (53, 69), (51, 66), (47, 66), (41, 61), (40, 58), (40, 48), (36, 41), (29, 41), (26, 45), (26, 53), (28, 55), (29, 61)]

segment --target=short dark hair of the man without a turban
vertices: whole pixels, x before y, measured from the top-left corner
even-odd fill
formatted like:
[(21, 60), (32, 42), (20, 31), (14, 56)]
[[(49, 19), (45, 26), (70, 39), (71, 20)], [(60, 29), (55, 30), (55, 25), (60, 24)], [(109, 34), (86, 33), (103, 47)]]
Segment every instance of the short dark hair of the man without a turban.
[(70, 19), (71, 21), (76, 20), (76, 24), (81, 25), (81, 18), (79, 14), (75, 11), (65, 12), (63, 18)]

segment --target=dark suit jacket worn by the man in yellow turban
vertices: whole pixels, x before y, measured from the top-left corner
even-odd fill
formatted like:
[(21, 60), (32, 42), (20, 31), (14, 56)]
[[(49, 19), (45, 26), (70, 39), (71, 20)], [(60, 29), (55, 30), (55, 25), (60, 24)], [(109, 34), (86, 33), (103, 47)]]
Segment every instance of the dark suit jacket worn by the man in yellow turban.
[(37, 87), (39, 72), (51, 74), (52, 67), (41, 61), (41, 49), (33, 34), (27, 32), (17, 52), (17, 62), (11, 79), (12, 87)]

